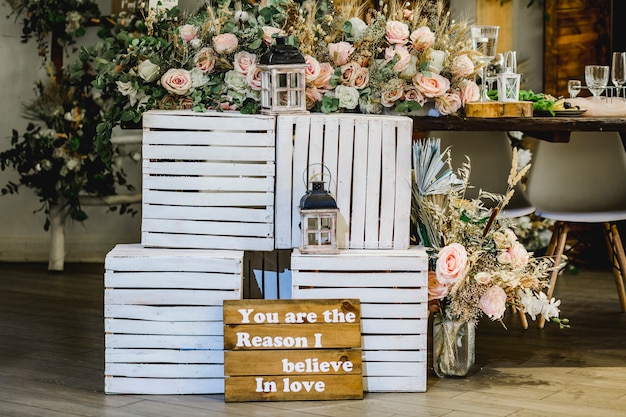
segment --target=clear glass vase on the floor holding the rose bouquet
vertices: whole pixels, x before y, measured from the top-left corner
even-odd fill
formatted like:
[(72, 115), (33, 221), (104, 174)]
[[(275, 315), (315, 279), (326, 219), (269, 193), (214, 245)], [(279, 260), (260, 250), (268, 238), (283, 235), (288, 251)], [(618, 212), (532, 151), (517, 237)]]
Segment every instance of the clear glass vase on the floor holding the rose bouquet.
[(440, 378), (463, 377), (472, 369), (476, 355), (476, 323), (433, 320), (433, 368)]

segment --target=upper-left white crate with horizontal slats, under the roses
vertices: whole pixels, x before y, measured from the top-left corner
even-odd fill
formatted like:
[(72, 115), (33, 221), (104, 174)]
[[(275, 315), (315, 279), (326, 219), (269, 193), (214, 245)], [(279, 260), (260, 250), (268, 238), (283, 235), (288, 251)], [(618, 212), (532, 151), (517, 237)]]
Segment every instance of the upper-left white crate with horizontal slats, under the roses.
[(153, 110), (143, 126), (145, 246), (274, 249), (273, 116)]

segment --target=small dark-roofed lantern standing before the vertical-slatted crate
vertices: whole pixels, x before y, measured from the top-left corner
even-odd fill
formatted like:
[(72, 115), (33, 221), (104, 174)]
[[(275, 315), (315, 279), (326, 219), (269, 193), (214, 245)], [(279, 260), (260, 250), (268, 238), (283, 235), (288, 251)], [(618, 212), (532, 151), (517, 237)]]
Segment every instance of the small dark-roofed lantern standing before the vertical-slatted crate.
[(302, 253), (339, 253), (337, 248), (337, 202), (324, 189), (324, 183), (313, 181), (311, 190), (300, 199)]

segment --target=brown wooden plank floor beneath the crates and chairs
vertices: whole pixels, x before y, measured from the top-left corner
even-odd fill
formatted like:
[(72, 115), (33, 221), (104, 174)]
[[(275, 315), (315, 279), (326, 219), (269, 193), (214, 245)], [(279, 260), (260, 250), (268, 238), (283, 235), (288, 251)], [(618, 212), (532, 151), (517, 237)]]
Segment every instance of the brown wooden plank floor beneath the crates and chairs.
[(566, 273), (557, 295), (572, 328), (506, 331), (483, 321), (477, 367), (432, 371), (426, 393), (358, 401), (229, 403), (221, 395), (103, 393), (103, 265), (0, 263), (0, 416), (624, 416), (626, 314), (609, 271)]

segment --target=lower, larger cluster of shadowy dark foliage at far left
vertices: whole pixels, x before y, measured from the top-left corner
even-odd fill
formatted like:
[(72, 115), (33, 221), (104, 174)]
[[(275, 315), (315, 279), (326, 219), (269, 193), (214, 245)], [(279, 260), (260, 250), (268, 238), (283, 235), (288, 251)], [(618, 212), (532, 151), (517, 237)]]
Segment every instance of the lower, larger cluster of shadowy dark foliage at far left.
[[(32, 188), (43, 203), (46, 230), (51, 204), (62, 205), (70, 218), (83, 221), (87, 214), (80, 194), (113, 195), (117, 185), (132, 189), (110, 142), (98, 148), (93, 141), (101, 118), (89, 88), (70, 86), (52, 69), (49, 75), (49, 80), (36, 84), (36, 98), (23, 106), (31, 120), (26, 131), (20, 136), (14, 129), (12, 148), (0, 153), (0, 169), (12, 168), (20, 175), (19, 183), (9, 181), (2, 194), (15, 194), (20, 186)], [(122, 213), (126, 210), (120, 208)]]

